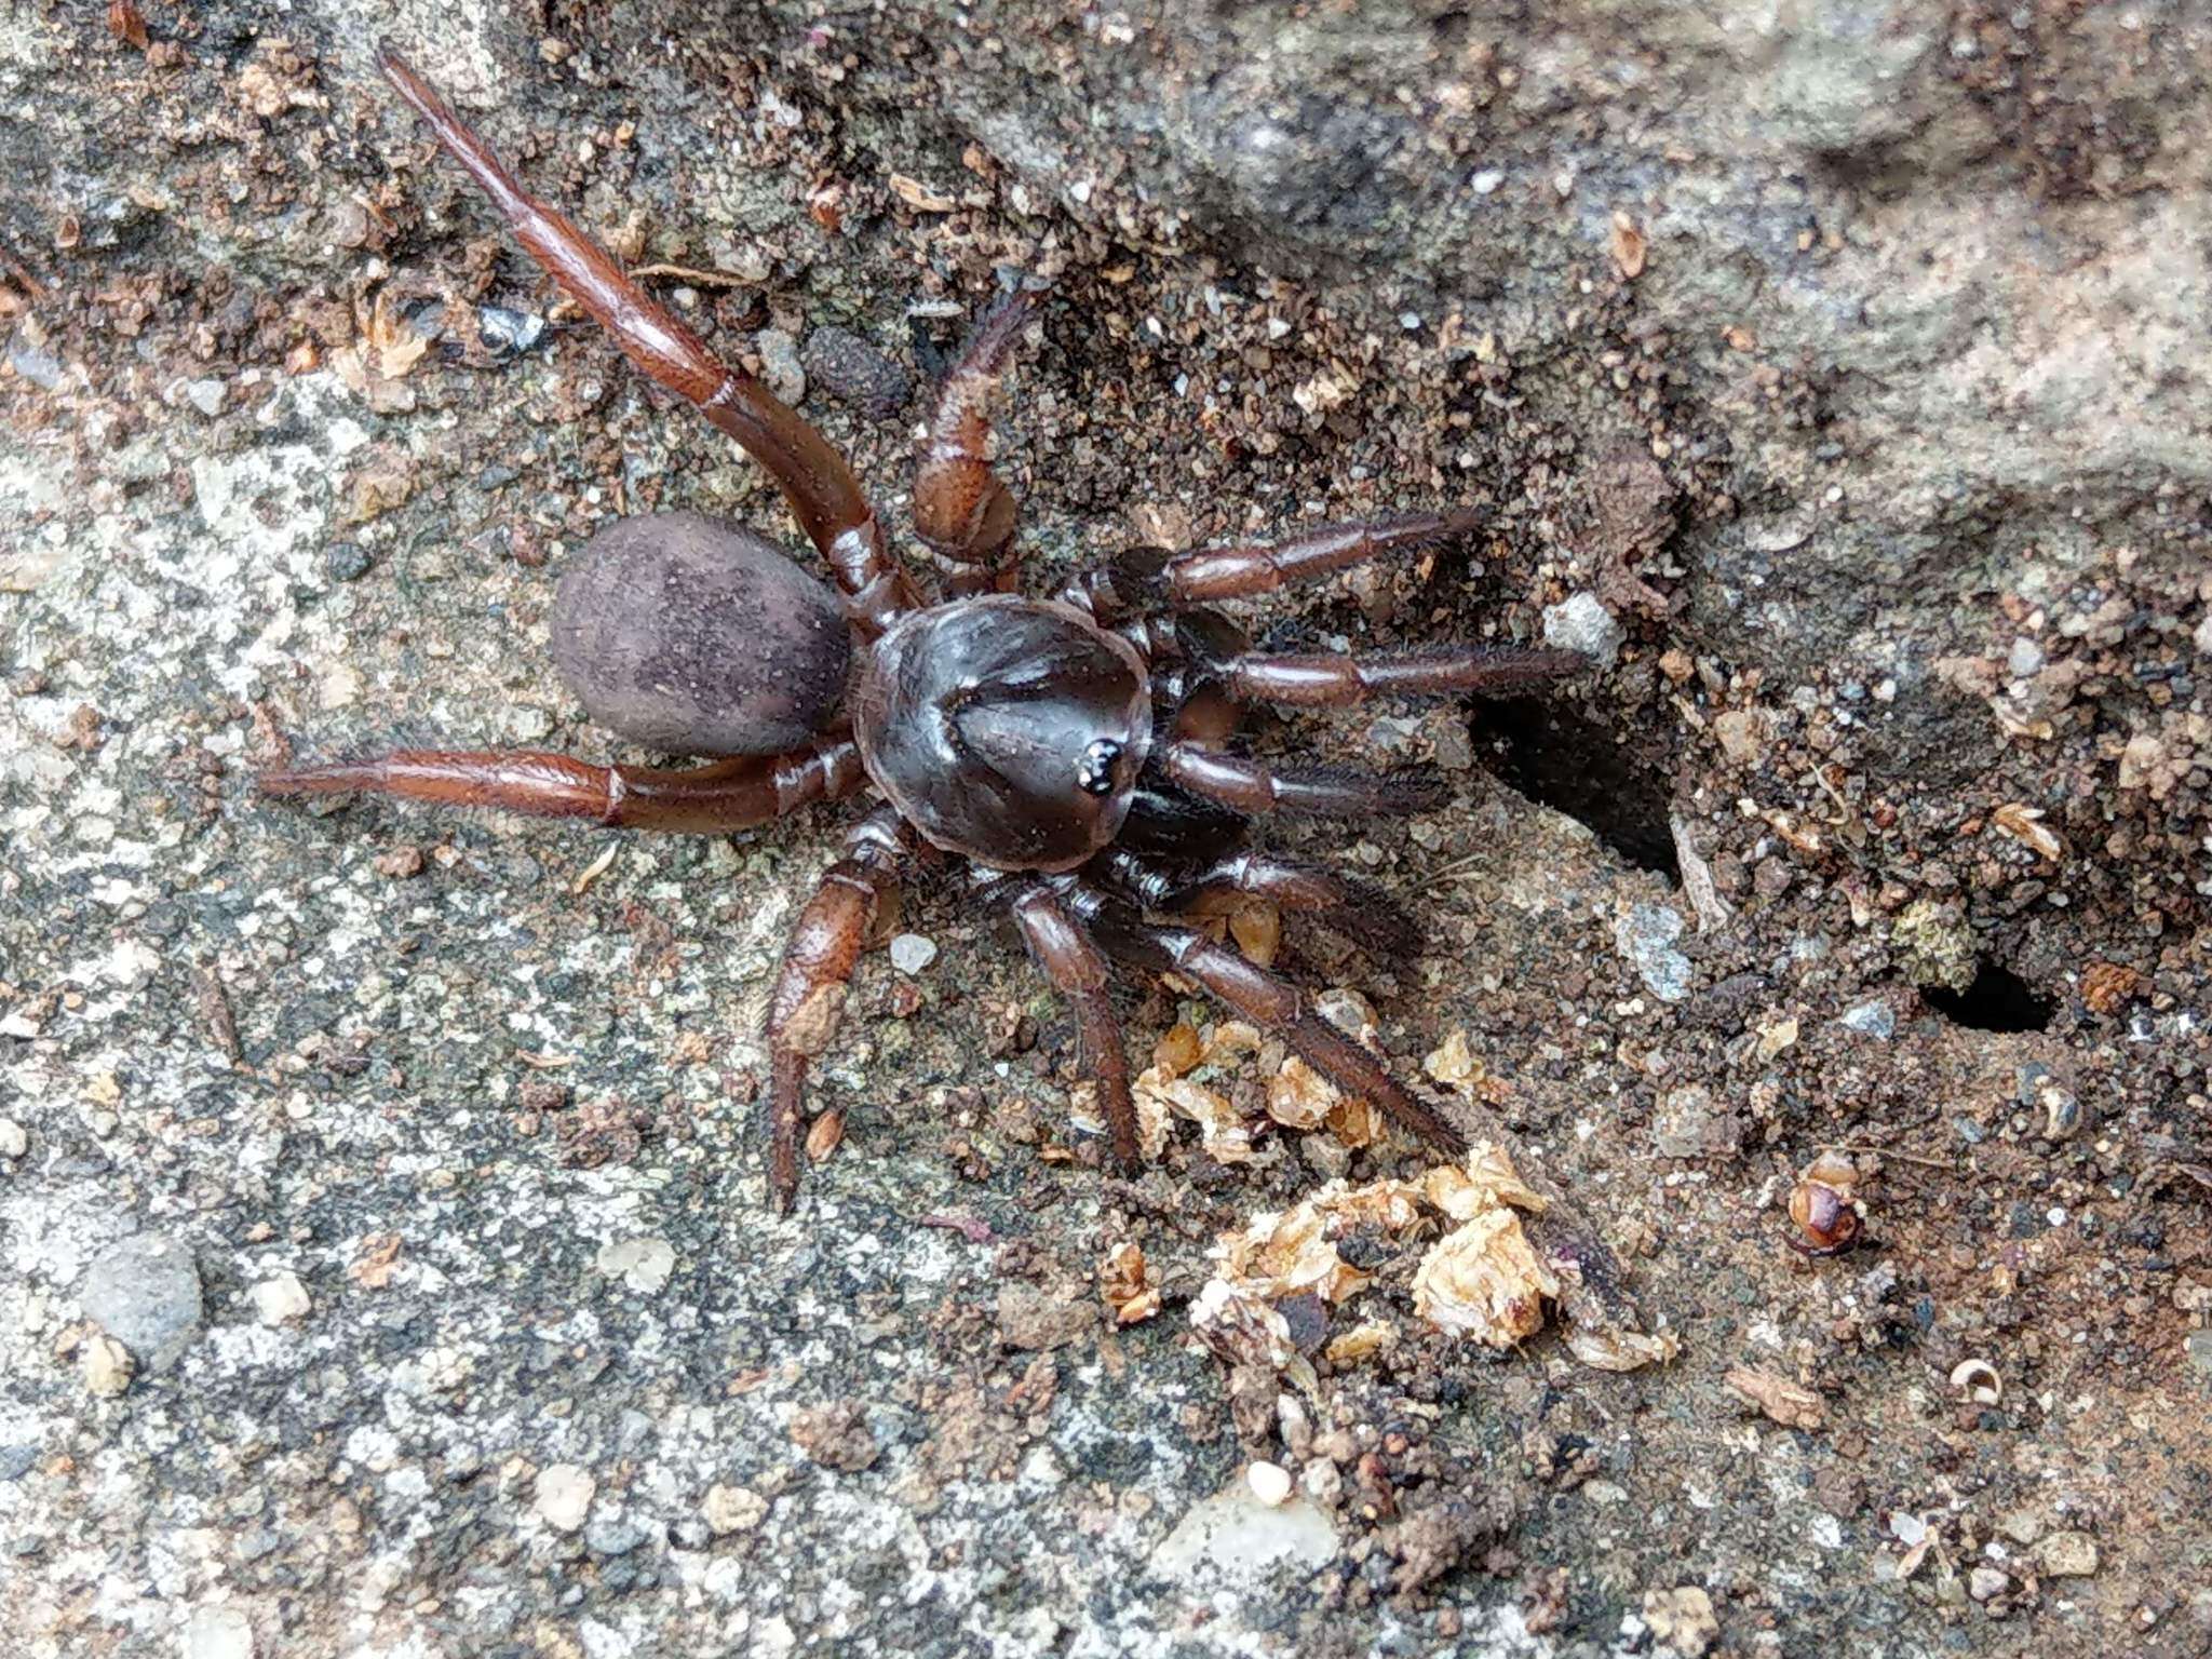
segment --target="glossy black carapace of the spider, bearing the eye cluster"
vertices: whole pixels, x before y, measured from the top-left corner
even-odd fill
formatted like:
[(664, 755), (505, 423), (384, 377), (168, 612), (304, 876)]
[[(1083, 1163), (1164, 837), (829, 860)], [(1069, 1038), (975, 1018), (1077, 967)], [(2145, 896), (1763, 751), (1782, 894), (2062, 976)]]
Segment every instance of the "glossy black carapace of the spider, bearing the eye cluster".
[(1152, 743), (1137, 650), (1073, 606), (911, 611), (852, 701), (860, 759), (927, 841), (995, 869), (1073, 869), (1121, 830)]

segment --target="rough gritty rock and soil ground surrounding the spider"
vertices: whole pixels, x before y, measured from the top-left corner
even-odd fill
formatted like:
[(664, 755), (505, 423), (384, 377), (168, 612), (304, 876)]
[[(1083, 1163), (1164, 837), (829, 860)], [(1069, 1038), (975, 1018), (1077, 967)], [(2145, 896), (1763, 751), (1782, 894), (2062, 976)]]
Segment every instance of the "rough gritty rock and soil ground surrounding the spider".
[[(0, 20), (11, 1650), (2212, 1646), (2208, 24), (1537, 11)], [(1265, 615), (1601, 670), (1263, 734), (1455, 785), (1276, 836), (1429, 953), (1279, 964), (1511, 1124), (1672, 1363), (1427, 1332), (1385, 1237), (1283, 1376), (1217, 1356), (1214, 1241), (1420, 1148), (1270, 1126), (1263, 1046), (1192, 1073), (1250, 1157), (1181, 1124), (1113, 1179), (1064, 1011), (927, 885), (776, 1219), (754, 1031), (838, 812), (254, 799), (288, 743), (608, 754), (546, 666), (564, 557), (785, 533), (378, 33), (891, 522), (942, 354), (1051, 279), (1000, 434), (1037, 586), (1493, 511)], [(1128, 1000), (1139, 1060), (1212, 1018)], [(1827, 1148), (1865, 1241), (1807, 1259)]]

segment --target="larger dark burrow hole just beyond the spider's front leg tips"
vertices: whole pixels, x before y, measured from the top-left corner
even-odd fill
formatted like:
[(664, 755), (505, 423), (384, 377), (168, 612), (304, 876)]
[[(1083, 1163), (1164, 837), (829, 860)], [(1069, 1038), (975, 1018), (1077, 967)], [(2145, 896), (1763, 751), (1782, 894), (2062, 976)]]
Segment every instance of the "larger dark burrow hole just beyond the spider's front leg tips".
[(1531, 801), (1586, 823), (1637, 869), (1681, 880), (1668, 830), (1668, 770), (1650, 748), (1535, 699), (1484, 703), (1475, 717), (1489, 768)]

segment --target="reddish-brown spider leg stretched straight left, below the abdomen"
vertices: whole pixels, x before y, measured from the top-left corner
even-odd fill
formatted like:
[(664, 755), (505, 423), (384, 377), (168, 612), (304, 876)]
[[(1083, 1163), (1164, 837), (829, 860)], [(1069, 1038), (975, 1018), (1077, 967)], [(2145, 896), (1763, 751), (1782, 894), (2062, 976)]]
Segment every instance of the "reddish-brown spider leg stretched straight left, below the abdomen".
[(591, 818), (622, 830), (717, 836), (834, 801), (867, 781), (849, 737), (790, 754), (688, 768), (593, 765), (544, 750), (394, 750), (263, 772), (261, 794), (389, 794), (447, 807), (495, 807), (533, 818)]

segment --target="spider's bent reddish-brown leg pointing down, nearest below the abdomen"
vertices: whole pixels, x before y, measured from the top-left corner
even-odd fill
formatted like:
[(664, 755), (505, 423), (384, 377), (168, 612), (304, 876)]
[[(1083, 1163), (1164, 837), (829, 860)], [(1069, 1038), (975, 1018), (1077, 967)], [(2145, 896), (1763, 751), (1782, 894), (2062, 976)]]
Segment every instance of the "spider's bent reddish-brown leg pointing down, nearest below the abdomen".
[(783, 967), (768, 1000), (768, 1194), (776, 1214), (790, 1214), (799, 1199), (807, 1068), (836, 1035), (852, 964), (867, 947), (876, 909), (898, 887), (907, 836), (905, 821), (889, 805), (860, 818), (845, 836), (845, 856), (823, 872), (783, 947)]

